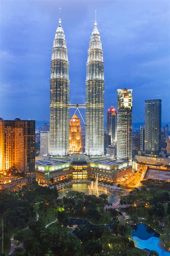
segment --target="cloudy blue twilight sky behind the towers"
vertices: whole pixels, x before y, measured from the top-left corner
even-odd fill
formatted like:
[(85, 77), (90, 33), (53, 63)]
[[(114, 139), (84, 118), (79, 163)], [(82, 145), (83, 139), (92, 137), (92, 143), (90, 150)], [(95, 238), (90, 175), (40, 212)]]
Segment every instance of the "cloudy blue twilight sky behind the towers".
[(162, 99), (162, 122), (170, 121), (169, 0), (1, 0), (0, 116), (49, 120), (59, 7), (69, 51), (70, 103), (85, 103), (87, 51), (97, 10), (105, 113), (111, 104), (116, 107), (117, 89), (126, 87), (133, 89), (133, 122), (144, 121), (144, 100), (154, 98)]

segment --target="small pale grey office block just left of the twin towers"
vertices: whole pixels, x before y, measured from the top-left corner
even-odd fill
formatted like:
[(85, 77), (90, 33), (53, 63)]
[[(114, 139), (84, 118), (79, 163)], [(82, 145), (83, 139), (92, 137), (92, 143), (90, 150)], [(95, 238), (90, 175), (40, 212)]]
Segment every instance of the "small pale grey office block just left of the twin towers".
[(49, 131), (41, 131), (40, 133), (40, 154), (49, 154)]

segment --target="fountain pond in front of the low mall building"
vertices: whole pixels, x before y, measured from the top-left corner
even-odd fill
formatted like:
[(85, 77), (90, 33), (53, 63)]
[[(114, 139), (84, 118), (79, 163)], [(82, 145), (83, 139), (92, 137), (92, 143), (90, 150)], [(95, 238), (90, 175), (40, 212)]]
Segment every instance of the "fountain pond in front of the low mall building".
[[(79, 191), (79, 192), (84, 192), (85, 194), (89, 195), (91, 193), (93, 193), (93, 190), (91, 191), (89, 188), (89, 184), (72, 184), (72, 185), (69, 185), (65, 188), (63, 188), (63, 190), (60, 190), (59, 191), (59, 196), (66, 196), (67, 195), (67, 192), (70, 191), (70, 190), (75, 190), (75, 191)], [(104, 193), (103, 191), (103, 187), (100, 187), (99, 186), (99, 194), (102, 194)], [(95, 193), (94, 193), (95, 194)], [(117, 200), (115, 199), (115, 197), (119, 196), (120, 194), (122, 194), (121, 192), (110, 192), (107, 190), (107, 195), (108, 195), (108, 201), (110, 203), (116, 203)]]

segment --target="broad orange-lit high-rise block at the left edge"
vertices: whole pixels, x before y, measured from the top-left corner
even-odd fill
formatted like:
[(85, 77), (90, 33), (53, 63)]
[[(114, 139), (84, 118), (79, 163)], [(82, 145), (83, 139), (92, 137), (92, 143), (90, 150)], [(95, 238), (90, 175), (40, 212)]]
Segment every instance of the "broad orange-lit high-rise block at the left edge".
[(0, 170), (35, 170), (35, 121), (0, 118)]

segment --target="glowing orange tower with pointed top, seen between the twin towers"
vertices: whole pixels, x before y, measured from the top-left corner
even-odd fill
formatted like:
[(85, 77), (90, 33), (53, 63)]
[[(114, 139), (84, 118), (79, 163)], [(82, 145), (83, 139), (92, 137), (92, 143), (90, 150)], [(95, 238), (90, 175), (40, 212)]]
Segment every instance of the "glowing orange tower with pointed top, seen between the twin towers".
[(81, 125), (80, 119), (74, 114), (70, 118), (69, 126), (69, 152), (80, 153), (81, 151)]

